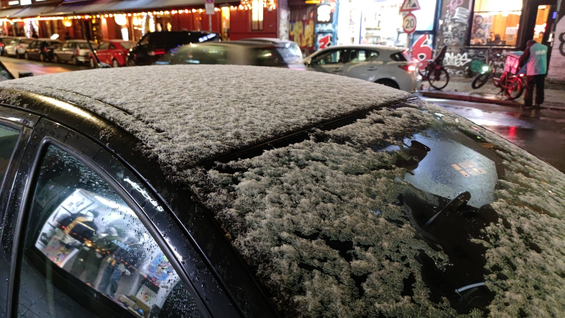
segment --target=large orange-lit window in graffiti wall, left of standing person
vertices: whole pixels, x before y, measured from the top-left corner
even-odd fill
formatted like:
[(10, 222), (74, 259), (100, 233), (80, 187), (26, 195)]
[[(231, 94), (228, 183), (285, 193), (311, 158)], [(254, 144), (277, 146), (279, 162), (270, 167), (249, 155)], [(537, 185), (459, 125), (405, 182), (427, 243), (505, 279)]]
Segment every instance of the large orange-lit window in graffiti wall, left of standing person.
[(470, 45), (516, 45), (522, 0), (476, 0)]

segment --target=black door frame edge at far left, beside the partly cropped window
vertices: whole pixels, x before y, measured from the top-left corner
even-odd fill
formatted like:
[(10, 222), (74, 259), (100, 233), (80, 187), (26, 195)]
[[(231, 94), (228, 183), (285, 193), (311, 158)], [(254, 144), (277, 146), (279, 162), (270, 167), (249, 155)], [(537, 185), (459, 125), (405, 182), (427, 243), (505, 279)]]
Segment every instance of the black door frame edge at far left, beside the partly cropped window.
[[(6, 296), (6, 302), (0, 302), (0, 312), (3, 313), (7, 312), (7, 300), (10, 299), (10, 295), (7, 291), (9, 280), (11, 279), (9, 276), (12, 260), (12, 245), (10, 242), (13, 242), (13, 236), (11, 235), (11, 231), (7, 231), (6, 229), (8, 225), (12, 225), (7, 222), (7, 218), (9, 217), (7, 213), (8, 205), (10, 204), (9, 199), (12, 196), (12, 193), (14, 193), (14, 186), (16, 182), (26, 178), (25, 175), (21, 175), (21, 173), (19, 174), (18, 171), (24, 162), (24, 154), (27, 144), (31, 139), (33, 129), (39, 119), (40, 117), (37, 115), (6, 107), (5, 104), (0, 104), (0, 123), (8, 127), (21, 130), (21, 135), (18, 143), (16, 143), (10, 164), (8, 165), (8, 169), (4, 176), (4, 182), (3, 184), (0, 184), (0, 217), (2, 220), (2, 226), (0, 227), (0, 240), (2, 240), (3, 243), (8, 243), (3, 244), (2, 248), (0, 248), (0, 268), (4, 269), (6, 267), (6, 270), (2, 270), (2, 274), (0, 274), (0, 277), (2, 278), (0, 280), (0, 294), (5, 293)], [(10, 227), (12, 228), (12, 226)], [(7, 277), (3, 277), (5, 274), (8, 274)], [(3, 296), (0, 297), (0, 299), (2, 298)]]

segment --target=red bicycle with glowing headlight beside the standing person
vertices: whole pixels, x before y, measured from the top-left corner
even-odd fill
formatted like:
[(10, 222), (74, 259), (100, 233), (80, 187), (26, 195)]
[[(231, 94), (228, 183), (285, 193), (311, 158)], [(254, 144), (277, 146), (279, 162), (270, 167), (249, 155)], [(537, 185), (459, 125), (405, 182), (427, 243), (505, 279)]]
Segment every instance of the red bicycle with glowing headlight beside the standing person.
[[(500, 56), (500, 54), (498, 55)], [(494, 86), (500, 88), (501, 93), (504, 93), (506, 98), (509, 100), (515, 100), (521, 96), (526, 85), (526, 79), (523, 74), (514, 75), (509, 71), (504, 71), (499, 78), (496, 78), (496, 73), (496, 68), (493, 67), (493, 61), (489, 61), (488, 65), (483, 66), (483, 70), (480, 74), (475, 76), (475, 79), (473, 79), (473, 82), (471, 83), (471, 87), (473, 89), (478, 89), (483, 87), (483, 85), (489, 80), (492, 80)]]

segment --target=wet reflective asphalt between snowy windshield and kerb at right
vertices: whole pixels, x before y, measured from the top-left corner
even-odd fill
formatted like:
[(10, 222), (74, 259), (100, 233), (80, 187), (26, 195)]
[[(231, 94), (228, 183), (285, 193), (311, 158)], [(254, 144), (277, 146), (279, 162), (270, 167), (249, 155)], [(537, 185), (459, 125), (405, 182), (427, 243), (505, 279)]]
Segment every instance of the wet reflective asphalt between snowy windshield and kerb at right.
[(565, 111), (425, 99), (496, 132), (565, 172)]

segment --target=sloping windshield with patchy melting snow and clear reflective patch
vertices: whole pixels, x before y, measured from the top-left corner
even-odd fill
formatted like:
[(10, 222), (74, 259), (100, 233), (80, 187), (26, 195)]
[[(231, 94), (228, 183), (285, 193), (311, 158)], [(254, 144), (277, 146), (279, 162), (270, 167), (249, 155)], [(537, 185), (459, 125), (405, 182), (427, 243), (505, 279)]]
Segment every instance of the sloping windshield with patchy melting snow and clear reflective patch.
[(285, 317), (562, 315), (565, 176), (404, 106), (240, 153), (195, 188)]

